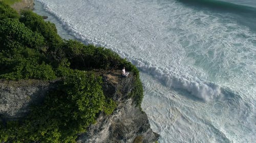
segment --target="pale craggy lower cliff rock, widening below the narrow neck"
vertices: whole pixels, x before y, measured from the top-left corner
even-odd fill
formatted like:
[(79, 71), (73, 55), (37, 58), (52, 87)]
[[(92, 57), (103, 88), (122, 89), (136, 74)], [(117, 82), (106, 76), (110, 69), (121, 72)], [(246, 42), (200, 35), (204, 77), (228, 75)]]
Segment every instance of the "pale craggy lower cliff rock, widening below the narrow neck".
[(136, 137), (141, 138), (138, 142), (155, 142), (159, 135), (150, 128), (146, 113), (128, 99), (119, 104), (111, 116), (101, 114), (97, 123), (80, 135), (77, 142), (136, 142)]

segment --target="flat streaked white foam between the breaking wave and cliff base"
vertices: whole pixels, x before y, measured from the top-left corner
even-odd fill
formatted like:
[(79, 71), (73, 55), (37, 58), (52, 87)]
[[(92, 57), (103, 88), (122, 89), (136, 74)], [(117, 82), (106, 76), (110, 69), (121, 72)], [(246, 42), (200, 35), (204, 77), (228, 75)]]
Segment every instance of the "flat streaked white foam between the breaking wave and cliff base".
[[(151, 77), (141, 73), (141, 78), (145, 81)], [(255, 132), (250, 128), (254, 126), (250, 117), (253, 107), (241, 99), (206, 104), (187, 100), (154, 79), (144, 83), (144, 87), (142, 108), (152, 119), (153, 130), (160, 133), (160, 142), (252, 142), (248, 138), (253, 138)], [(234, 127), (238, 119), (250, 122), (244, 122), (241, 128)], [(241, 132), (248, 134), (239, 137)]]

